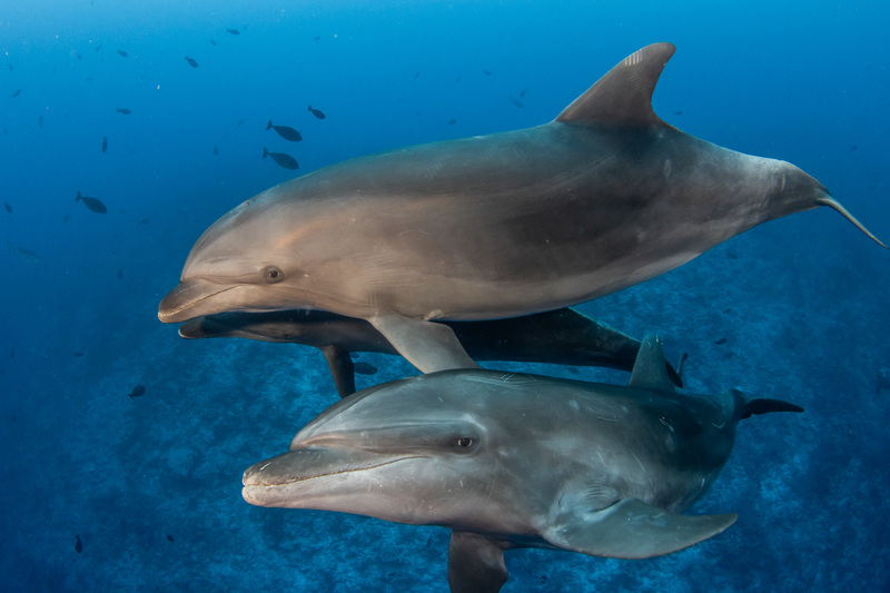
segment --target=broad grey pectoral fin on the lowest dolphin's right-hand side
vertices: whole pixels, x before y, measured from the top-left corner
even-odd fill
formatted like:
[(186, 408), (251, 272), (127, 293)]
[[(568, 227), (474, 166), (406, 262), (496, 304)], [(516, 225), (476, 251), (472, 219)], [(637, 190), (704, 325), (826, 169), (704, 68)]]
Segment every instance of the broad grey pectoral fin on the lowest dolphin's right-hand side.
[(679, 515), (625, 498), (592, 513), (563, 513), (543, 535), (553, 545), (591, 556), (647, 559), (713, 537), (736, 516)]

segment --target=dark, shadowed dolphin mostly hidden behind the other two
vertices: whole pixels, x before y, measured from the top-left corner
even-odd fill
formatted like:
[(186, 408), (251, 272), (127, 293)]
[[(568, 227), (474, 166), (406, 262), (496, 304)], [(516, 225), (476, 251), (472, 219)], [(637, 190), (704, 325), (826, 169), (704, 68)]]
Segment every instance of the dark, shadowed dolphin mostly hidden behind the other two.
[[(492, 322), (444, 322), (474, 360), (605, 366), (630, 372), (640, 342), (572, 309)], [(373, 325), (322, 310), (220, 313), (190, 319), (184, 338), (240, 337), (304, 344), (322, 350), (340, 397), (355, 393), (354, 352), (398, 354)], [(672, 380), (683, 382), (672, 366)]]

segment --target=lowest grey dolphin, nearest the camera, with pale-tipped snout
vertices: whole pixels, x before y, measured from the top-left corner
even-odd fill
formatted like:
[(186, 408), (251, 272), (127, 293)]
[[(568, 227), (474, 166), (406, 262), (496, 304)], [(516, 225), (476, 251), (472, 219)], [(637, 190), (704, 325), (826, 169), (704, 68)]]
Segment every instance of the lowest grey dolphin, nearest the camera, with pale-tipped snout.
[(739, 421), (779, 411), (802, 408), (679, 389), (649, 336), (626, 387), (456, 369), (358, 392), (249, 467), (243, 495), (451, 527), (452, 591), (494, 592), (508, 548), (644, 559), (722, 532), (735, 514), (680, 513), (718, 477)]

